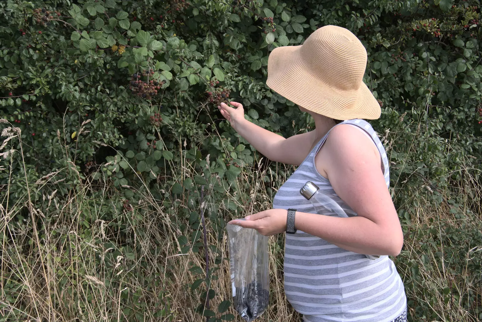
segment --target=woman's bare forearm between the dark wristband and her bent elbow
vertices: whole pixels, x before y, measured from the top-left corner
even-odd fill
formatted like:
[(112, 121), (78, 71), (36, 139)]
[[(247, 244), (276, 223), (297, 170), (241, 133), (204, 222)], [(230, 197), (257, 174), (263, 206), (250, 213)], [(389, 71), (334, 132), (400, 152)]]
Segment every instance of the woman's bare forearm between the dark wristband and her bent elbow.
[(325, 241), (364, 255), (400, 254), (402, 249), (399, 236), (389, 236), (387, 229), (368, 218), (349, 218), (296, 212), (295, 228)]

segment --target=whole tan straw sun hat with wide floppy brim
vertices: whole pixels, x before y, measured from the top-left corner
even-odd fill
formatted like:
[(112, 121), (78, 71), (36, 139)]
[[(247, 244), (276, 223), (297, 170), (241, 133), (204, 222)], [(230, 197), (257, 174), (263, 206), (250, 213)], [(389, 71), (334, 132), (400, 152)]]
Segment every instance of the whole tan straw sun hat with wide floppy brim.
[(367, 55), (348, 29), (325, 26), (300, 46), (275, 48), (267, 85), (293, 103), (335, 120), (380, 117), (380, 105), (363, 83)]

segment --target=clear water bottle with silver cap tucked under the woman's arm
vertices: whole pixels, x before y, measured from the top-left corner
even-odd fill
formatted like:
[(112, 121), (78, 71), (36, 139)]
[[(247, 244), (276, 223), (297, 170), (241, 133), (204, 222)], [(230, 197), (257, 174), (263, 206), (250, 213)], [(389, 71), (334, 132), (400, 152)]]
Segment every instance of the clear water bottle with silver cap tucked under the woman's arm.
[[(354, 217), (355, 214), (349, 214), (341, 208), (341, 206), (329, 195), (323, 193), (317, 185), (308, 181), (303, 188), (300, 189), (300, 193), (306, 200), (310, 201), (316, 212), (320, 215), (332, 215), (335, 213), (340, 217)], [(365, 255), (370, 259), (380, 258), (380, 255)]]

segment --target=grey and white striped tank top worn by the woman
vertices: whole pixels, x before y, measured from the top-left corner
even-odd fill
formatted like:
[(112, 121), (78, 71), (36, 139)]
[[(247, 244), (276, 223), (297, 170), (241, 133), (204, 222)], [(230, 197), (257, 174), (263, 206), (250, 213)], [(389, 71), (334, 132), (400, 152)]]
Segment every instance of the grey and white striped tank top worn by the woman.
[[(370, 135), (380, 151), (388, 187), (387, 154), (372, 126), (359, 119), (340, 124), (355, 125)], [(273, 208), (316, 213), (299, 192), (305, 182), (313, 181), (325, 193), (334, 195), (347, 214), (353, 213), (336, 198), (330, 182), (314, 165), (328, 134), (278, 190)], [(307, 322), (390, 322), (403, 316), (407, 305), (402, 279), (387, 255), (371, 260), (300, 230), (286, 234), (284, 290), (290, 304)]]

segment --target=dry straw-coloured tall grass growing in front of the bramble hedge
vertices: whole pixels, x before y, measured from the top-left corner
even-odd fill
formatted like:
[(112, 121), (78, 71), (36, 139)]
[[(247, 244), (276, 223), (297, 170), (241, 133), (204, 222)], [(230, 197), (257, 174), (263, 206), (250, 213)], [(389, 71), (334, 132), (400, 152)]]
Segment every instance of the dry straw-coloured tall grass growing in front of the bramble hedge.
[[(195, 174), (192, 169), (194, 167), (186, 161), (182, 167), (173, 168), (174, 177), (192, 177)], [(263, 173), (254, 168), (243, 170), (236, 187), (230, 191), (244, 191), (255, 202), (248, 206), (246, 202), (241, 203), (240, 206), (246, 206), (242, 215), (270, 207), (273, 196), (268, 193), (267, 185), (261, 182), (266, 177), (276, 188), (285, 179), (287, 171), (281, 167), (278, 170), (276, 173)], [(56, 179), (53, 178), (51, 175), (35, 183), (29, 182), (30, 195), (18, 198), (25, 200), (24, 204), (12, 204), (8, 200), (2, 201), (6, 206), (0, 204), (0, 229), (3, 235), (0, 320), (90, 322), (134, 321), (135, 317), (137, 321), (205, 321), (195, 313), (195, 308), (201, 303), (201, 292), (206, 289), (206, 284), (202, 283), (196, 291), (189, 288), (202, 278), (202, 274), (190, 268), (195, 265), (205, 268), (204, 250), (201, 248), (197, 253), (190, 251), (180, 254), (177, 242), (177, 238), (183, 234), (178, 226), (180, 219), (166, 214), (162, 200), (156, 200), (146, 192), (138, 204), (132, 205), (132, 210), (119, 210), (113, 201), (116, 192), (112, 183), (94, 180), (84, 181), (67, 199), (59, 199), (55, 191), (64, 183), (54, 183)], [(13, 184), (2, 189), (9, 191)], [(53, 205), (49, 208), (52, 209), (50, 213), (42, 213), (31, 198), (37, 193), (44, 193), (45, 185), (49, 185), (52, 192), (44, 195), (41, 203), (43, 206)], [(470, 196), (467, 204), (461, 205), (462, 208), (472, 207), (470, 202), (482, 197), (482, 188), (469, 176), (460, 182), (460, 187), (466, 189), (465, 193)], [(482, 214), (455, 220), (449, 213), (450, 205), (446, 201), (442, 202), (442, 206), (433, 206), (430, 188), (412, 189), (419, 195), (423, 192), (421, 195), (425, 197), (418, 200), (417, 216), (410, 218), (410, 224), (402, 227), (405, 248), (395, 259), (405, 282), (407, 296), (418, 303), (434, 303), (428, 295), (435, 298), (437, 305), (432, 309), (437, 312), (437, 321), (478, 321), (478, 317), (469, 314), (469, 308), (462, 305), (462, 299), (469, 293), (480, 299), (481, 271), (465, 270), (463, 274), (455, 276), (443, 261), (437, 262), (435, 252), (444, 254), (444, 248), (453, 246), (442, 243), (433, 245), (428, 254), (420, 254), (418, 250), (419, 243), (427, 239), (421, 229), (426, 225), (441, 227), (443, 223), (463, 228), (469, 219), (481, 221)], [(95, 200), (92, 191), (96, 192)], [(226, 207), (223, 208), (212, 198), (209, 188), (205, 193), (206, 208), (219, 207), (219, 216), (225, 220), (232, 217)], [(5, 196), (8, 198), (9, 194)], [(178, 200), (174, 210), (187, 207), (186, 202)], [(106, 208), (112, 209), (112, 220), (86, 220), (101, 218), (101, 212)], [(114, 223), (123, 226), (117, 228), (112, 226)], [(220, 268), (215, 272), (217, 278), (210, 281), (215, 296), (209, 305), (216, 312), (219, 303), (231, 296), (228, 261), (214, 264), (216, 257), (228, 257), (227, 235), (224, 234), (219, 240), (209, 218), (206, 218), (206, 226), (210, 265)], [(440, 234), (442, 240), (442, 230)], [(126, 240), (125, 236), (130, 239)], [(301, 321), (283, 293), (282, 240), (272, 236), (269, 241), (270, 305), (258, 321)], [(480, 246), (470, 249), (465, 258), (466, 264), (476, 256), (480, 258), (481, 250)], [(411, 278), (415, 264), (418, 264), (419, 274), (423, 277), (420, 283), (413, 282), (415, 280)], [(452, 295), (452, 300), (447, 302), (447, 295), (441, 290), (452, 282), (457, 294), (455, 299)], [(422, 289), (425, 291), (422, 292)], [(241, 321), (232, 308), (229, 312), (235, 315), (235, 321)], [(409, 315), (414, 314), (415, 309), (409, 308)], [(435, 321), (435, 318), (425, 317), (418, 321)]]

